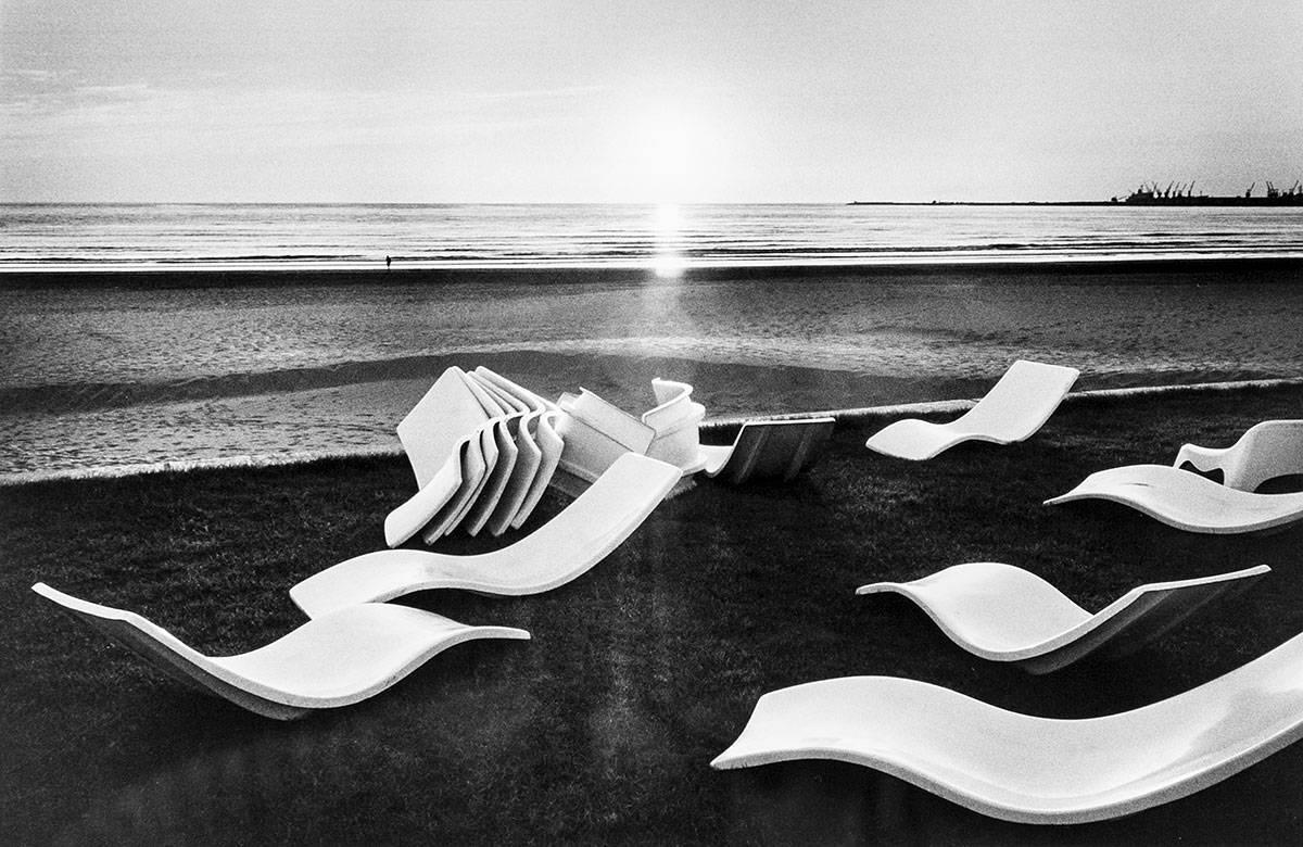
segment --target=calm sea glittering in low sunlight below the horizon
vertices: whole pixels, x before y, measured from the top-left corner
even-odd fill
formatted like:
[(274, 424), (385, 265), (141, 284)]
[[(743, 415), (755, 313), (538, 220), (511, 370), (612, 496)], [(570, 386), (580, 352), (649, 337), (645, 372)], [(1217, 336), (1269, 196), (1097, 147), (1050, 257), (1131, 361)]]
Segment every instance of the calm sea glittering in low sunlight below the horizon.
[(1083, 206), (0, 206), (0, 270), (1300, 255), (1303, 210)]

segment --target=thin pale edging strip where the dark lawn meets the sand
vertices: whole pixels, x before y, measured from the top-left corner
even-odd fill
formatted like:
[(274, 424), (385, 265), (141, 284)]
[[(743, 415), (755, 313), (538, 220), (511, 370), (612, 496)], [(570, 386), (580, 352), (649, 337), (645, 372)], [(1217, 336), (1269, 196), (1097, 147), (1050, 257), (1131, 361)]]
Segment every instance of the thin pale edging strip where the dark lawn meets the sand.
[[(1220, 394), (1242, 390), (1272, 390), (1303, 386), (1303, 378), (1289, 379), (1246, 379), (1237, 382), (1213, 383), (1184, 383), (1184, 384), (1154, 384), (1138, 386), (1130, 388), (1095, 388), (1087, 391), (1072, 391), (1065, 399), (1065, 405), (1074, 405), (1083, 401), (1096, 400), (1128, 400), (1153, 397), (1160, 395), (1190, 395), (1190, 394)], [(921, 403), (898, 403), (878, 407), (823, 409), (796, 413), (779, 413), (766, 416), (724, 416), (708, 418), (701, 422), (702, 434), (718, 434), (731, 427), (740, 426), (748, 420), (801, 420), (810, 417), (834, 417), (838, 424), (863, 425), (873, 418), (891, 418), (906, 414), (943, 414), (960, 413), (972, 408), (977, 399), (954, 400), (928, 400)], [(706, 439), (708, 442), (718, 439)], [(69, 482), (89, 480), (122, 480), (147, 474), (162, 473), (189, 473), (194, 470), (214, 469), (249, 469), (249, 468), (283, 468), (308, 465), (317, 461), (370, 459), (370, 457), (401, 457), (403, 447), (397, 443), (388, 447), (352, 448), (352, 450), (322, 450), (300, 451), (281, 455), (250, 455), (227, 456), (214, 459), (172, 460), (160, 463), (141, 463), (132, 465), (119, 465), (109, 468), (70, 468), (65, 470), (31, 472), (21, 474), (0, 474), (0, 489), (16, 489), (27, 485), (46, 482)]]

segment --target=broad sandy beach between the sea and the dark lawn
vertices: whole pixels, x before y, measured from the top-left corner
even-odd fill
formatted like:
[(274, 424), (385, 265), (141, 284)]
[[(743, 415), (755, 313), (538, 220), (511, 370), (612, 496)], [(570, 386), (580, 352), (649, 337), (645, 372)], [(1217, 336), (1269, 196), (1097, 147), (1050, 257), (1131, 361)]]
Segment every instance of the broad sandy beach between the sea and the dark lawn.
[(1303, 377), (1303, 263), (0, 275), (0, 474), (360, 452), (448, 365), (710, 417)]

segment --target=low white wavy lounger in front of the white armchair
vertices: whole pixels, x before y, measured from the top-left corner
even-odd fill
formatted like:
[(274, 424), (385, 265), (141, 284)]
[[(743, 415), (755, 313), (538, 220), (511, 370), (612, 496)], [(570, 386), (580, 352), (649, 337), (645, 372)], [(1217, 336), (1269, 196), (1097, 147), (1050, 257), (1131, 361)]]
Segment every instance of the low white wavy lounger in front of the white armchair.
[(1303, 493), (1252, 494), (1169, 465), (1100, 470), (1045, 504), (1089, 498), (1122, 503), (1177, 529), (1197, 533), (1247, 533), (1303, 520)]

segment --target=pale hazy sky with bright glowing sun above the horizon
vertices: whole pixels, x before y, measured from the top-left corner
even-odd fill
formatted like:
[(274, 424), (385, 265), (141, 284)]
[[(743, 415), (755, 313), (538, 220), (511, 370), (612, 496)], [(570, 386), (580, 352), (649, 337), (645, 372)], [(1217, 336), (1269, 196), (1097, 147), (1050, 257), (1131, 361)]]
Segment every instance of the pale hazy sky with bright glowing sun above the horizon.
[(1078, 199), (1303, 176), (1303, 0), (0, 0), (0, 199)]

